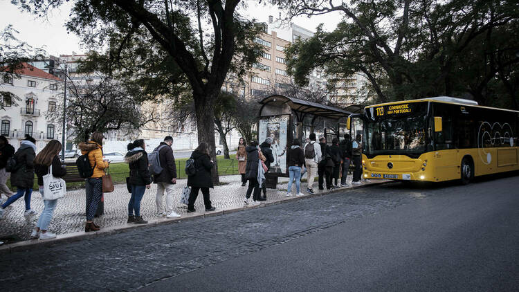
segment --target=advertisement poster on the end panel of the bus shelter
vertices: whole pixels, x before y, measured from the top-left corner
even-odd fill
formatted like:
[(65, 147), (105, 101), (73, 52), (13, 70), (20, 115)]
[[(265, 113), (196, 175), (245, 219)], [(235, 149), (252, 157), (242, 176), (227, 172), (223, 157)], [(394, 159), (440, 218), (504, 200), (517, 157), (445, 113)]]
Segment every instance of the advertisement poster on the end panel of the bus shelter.
[(289, 127), (289, 116), (271, 116), (260, 120), (260, 143), (271, 137), (274, 162), (268, 172), (286, 173), (286, 134)]

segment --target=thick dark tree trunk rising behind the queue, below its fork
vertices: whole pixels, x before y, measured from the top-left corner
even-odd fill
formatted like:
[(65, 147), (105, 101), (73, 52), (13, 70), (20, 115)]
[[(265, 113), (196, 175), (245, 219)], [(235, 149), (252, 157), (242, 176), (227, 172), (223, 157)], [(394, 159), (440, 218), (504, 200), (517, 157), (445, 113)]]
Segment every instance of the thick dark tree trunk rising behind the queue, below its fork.
[(212, 168), (211, 176), (212, 182), (219, 185), (218, 165), (216, 156), (216, 141), (215, 141), (215, 110), (214, 104), (218, 93), (212, 93), (209, 96), (194, 95), (194, 109), (197, 112), (197, 132), (198, 142), (208, 143), (209, 156), (215, 163)]

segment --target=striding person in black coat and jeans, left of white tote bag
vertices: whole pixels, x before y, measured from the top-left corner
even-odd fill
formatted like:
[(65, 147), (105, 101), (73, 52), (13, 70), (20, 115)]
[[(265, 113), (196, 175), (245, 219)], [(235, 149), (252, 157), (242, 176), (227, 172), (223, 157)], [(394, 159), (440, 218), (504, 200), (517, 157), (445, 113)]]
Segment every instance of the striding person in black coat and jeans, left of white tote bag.
[(15, 158), (15, 170), (11, 172), (11, 185), (17, 188), (15, 195), (11, 196), (6, 203), (0, 206), (0, 218), (5, 209), (17, 199), (25, 196), (25, 212), (24, 216), (36, 215), (36, 212), (30, 208), (30, 195), (33, 193), (34, 185), (34, 158), (36, 156), (36, 140), (26, 135), (21, 141), (21, 145), (13, 156)]

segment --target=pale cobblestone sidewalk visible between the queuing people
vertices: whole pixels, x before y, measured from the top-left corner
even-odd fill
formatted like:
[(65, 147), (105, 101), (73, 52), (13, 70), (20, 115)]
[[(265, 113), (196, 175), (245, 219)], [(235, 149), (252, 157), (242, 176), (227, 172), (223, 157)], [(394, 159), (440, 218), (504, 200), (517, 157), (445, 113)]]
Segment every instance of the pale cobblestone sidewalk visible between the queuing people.
[[(349, 183), (351, 183), (351, 176), (349, 176), (348, 179)], [(216, 186), (210, 190), (212, 205), (215, 206), (217, 210), (243, 207), (243, 199), (247, 188), (242, 187), (240, 176), (220, 176), (220, 181), (224, 183), (224, 185)], [(285, 199), (288, 179), (280, 178), (279, 182), (276, 190), (267, 189), (266, 203)], [(182, 217), (184, 217), (187, 212), (187, 206), (180, 203), (180, 197), (186, 184), (187, 179), (179, 179), (174, 188), (174, 208)], [(306, 190), (306, 186), (306, 183), (302, 183), (301, 190)], [(317, 182), (314, 183), (313, 189), (316, 190), (316, 193), (320, 192), (317, 191)], [(292, 190), (293, 193), (295, 193), (295, 185), (292, 186)], [(156, 185), (153, 184), (152, 188), (145, 192), (143, 201), (141, 202), (140, 212), (143, 218), (147, 220), (158, 219), (156, 218), (155, 194)], [(96, 218), (95, 223), (101, 226), (101, 228), (126, 226), (129, 197), (130, 194), (127, 192), (125, 184), (116, 185), (114, 192), (104, 194), (104, 215)], [(31, 208), (33, 208), (38, 215), (44, 208), (42, 196), (37, 191), (33, 192)], [(201, 194), (199, 194), (199, 198), (195, 203), (195, 208), (197, 212), (204, 210)], [(0, 241), (4, 241), (4, 244), (29, 239), (30, 232), (33, 230), (39, 216), (24, 217), (24, 210), (25, 204), (23, 198), (20, 198), (6, 208), (3, 218), (0, 219)], [(67, 192), (66, 197), (60, 199), (57, 203), (49, 230), (57, 233), (57, 235), (84, 230), (84, 222), (86, 220), (84, 210), (84, 189)]]

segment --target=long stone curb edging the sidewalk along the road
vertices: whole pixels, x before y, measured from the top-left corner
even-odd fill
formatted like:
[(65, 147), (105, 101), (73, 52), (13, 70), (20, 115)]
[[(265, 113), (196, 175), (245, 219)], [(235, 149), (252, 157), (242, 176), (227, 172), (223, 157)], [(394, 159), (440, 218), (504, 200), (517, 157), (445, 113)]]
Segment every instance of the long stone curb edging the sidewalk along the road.
[(181, 223), (183, 221), (190, 221), (190, 220), (194, 220), (194, 219), (203, 219), (206, 217), (207, 218), (216, 217), (216, 216), (221, 216), (221, 215), (226, 215), (226, 214), (232, 214), (235, 212), (243, 212), (243, 211), (255, 209), (255, 208), (264, 208), (264, 207), (273, 206), (273, 205), (277, 205), (277, 204), (289, 203), (289, 202), (298, 201), (298, 200), (302, 200), (302, 199), (309, 199), (309, 198), (313, 198), (313, 197), (322, 197), (327, 194), (335, 194), (337, 192), (349, 192), (349, 191), (356, 190), (359, 188), (368, 188), (368, 187), (374, 186), (374, 185), (385, 185), (385, 184), (394, 183), (394, 182), (395, 181), (376, 181), (376, 182), (367, 183), (367, 184), (363, 184), (363, 185), (352, 186), (349, 188), (338, 188), (336, 190), (327, 190), (325, 192), (318, 192), (316, 194), (305, 194), (304, 196), (300, 196), (300, 197), (295, 197), (295, 196), (282, 197), (282, 199), (280, 199), (280, 200), (260, 203), (260, 205), (256, 205), (256, 206), (248, 205), (248, 206), (242, 206), (242, 207), (231, 208), (231, 209), (217, 210), (216, 212), (193, 212), (193, 213), (190, 213), (187, 215), (183, 215), (183, 217), (180, 217), (180, 218), (161, 218), (161, 219), (156, 219), (156, 220), (149, 220), (147, 224), (129, 224), (129, 223), (127, 223), (126, 225), (102, 228), (101, 230), (95, 231), (95, 232), (83, 232), (83, 231), (71, 232), (71, 233), (66, 233), (64, 235), (57, 235), (57, 237), (55, 239), (48, 239), (45, 241), (41, 241), (39, 239), (18, 241), (18, 242), (12, 243), (12, 244), (5, 244), (5, 245), (0, 246), (0, 254), (12, 253), (17, 250), (24, 250), (24, 248), (35, 248), (37, 246), (44, 247), (44, 246), (52, 246), (54, 244), (65, 244), (65, 243), (69, 243), (69, 242), (73, 242), (73, 241), (80, 241), (82, 239), (89, 238), (89, 237), (113, 235), (113, 234), (117, 234), (117, 233), (121, 233), (121, 232), (127, 232), (128, 230), (134, 230), (136, 228), (161, 226), (161, 225), (170, 224), (170, 223)]

